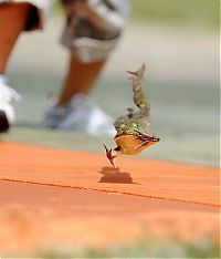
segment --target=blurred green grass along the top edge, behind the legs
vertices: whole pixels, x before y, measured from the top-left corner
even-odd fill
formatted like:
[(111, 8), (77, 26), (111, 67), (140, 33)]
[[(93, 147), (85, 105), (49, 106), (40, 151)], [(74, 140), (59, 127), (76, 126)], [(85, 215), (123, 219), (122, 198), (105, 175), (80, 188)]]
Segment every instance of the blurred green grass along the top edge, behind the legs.
[[(219, 28), (219, 0), (130, 0), (133, 20), (152, 20), (173, 24), (196, 23), (196, 25)], [(56, 1), (54, 12), (61, 13)]]

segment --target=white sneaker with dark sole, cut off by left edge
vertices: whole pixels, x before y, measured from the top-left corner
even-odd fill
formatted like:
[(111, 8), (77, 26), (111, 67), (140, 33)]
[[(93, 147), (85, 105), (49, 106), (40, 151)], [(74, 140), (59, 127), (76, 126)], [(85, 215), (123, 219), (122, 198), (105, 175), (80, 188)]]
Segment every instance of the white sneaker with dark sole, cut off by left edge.
[(7, 77), (0, 75), (0, 133), (7, 132), (15, 120), (11, 101), (20, 101), (21, 96), (7, 85)]

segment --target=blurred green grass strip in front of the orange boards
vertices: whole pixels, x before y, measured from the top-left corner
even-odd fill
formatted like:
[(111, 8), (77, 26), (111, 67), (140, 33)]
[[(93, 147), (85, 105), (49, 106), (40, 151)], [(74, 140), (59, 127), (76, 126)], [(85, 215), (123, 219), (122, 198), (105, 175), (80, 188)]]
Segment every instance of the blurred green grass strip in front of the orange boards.
[(109, 245), (105, 249), (92, 247), (78, 251), (53, 248), (36, 253), (41, 258), (220, 258), (220, 247), (210, 240), (199, 242), (139, 240), (130, 246)]

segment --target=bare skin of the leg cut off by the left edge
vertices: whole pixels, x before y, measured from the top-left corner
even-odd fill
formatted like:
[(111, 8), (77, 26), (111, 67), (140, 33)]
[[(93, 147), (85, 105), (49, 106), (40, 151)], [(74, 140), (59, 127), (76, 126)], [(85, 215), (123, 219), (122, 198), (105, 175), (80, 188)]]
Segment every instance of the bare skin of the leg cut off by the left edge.
[(0, 74), (6, 72), (14, 43), (24, 29), (29, 8), (29, 3), (6, 3), (0, 6)]

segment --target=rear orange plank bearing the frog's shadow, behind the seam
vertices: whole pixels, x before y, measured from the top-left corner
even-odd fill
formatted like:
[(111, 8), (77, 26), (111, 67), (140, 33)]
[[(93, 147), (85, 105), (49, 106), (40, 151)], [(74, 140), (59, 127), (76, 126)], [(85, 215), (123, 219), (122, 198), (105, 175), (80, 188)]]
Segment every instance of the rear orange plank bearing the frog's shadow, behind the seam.
[(220, 206), (219, 169), (0, 143), (0, 178)]

